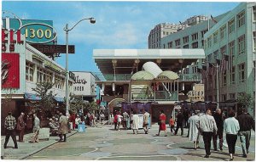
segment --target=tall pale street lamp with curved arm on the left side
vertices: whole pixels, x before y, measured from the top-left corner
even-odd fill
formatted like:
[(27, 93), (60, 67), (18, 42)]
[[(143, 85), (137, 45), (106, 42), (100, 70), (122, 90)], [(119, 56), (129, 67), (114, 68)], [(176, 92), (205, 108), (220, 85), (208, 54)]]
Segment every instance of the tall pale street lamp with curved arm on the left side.
[(95, 24), (96, 20), (94, 18), (85, 18), (82, 20), (79, 20), (71, 29), (68, 29), (68, 25), (65, 26), (64, 31), (66, 31), (66, 115), (69, 115), (68, 113), (68, 106), (69, 106), (69, 88), (68, 88), (68, 79), (69, 79), (69, 72), (68, 72), (68, 31), (72, 31), (73, 28), (78, 25), (83, 20), (90, 20), (91, 24)]

